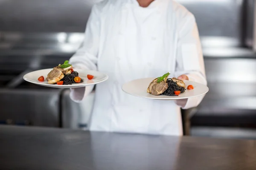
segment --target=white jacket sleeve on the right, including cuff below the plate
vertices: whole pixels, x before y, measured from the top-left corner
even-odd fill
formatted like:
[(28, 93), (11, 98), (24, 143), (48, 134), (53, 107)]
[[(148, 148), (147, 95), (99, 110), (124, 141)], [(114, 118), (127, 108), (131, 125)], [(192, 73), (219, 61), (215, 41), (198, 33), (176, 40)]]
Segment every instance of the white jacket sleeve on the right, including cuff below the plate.
[[(207, 85), (198, 27), (191, 13), (184, 19), (178, 34), (175, 77), (182, 74), (191, 81)], [(181, 108), (189, 109), (198, 106), (203, 98), (204, 95), (175, 102)]]

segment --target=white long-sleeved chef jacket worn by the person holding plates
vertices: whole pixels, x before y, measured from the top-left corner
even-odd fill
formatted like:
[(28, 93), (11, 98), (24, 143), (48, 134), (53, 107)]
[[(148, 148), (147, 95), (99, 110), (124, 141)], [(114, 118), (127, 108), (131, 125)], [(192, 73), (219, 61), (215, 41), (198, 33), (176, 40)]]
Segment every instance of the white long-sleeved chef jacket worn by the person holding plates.
[[(182, 135), (179, 105), (195, 107), (203, 96), (184, 104), (144, 99), (125, 94), (122, 85), (167, 72), (170, 77), (186, 74), (189, 80), (207, 84), (195, 17), (172, 0), (155, 0), (147, 8), (137, 0), (97, 3), (87, 22), (84, 43), (70, 63), (109, 76), (96, 85), (89, 123), (95, 131)], [(71, 89), (70, 97), (79, 102), (92, 89)]]

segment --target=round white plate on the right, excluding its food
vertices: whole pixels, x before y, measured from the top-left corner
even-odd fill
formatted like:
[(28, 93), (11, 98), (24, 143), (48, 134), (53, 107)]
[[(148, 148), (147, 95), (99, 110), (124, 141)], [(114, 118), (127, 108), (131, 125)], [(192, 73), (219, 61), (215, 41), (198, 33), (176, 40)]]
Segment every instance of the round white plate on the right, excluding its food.
[(147, 93), (147, 88), (149, 83), (155, 78), (145, 78), (145, 79), (136, 79), (131, 82), (127, 82), (122, 86), (122, 90), (133, 96), (148, 98), (148, 99), (157, 99), (157, 100), (177, 100), (177, 99), (188, 99), (196, 96), (201, 96), (206, 94), (209, 91), (209, 88), (206, 85), (202, 85), (197, 82), (192, 82), (188, 80), (184, 80), (186, 84), (186, 89), (188, 85), (193, 85), (193, 90), (186, 90), (183, 94), (179, 96), (154, 96), (152, 94)]

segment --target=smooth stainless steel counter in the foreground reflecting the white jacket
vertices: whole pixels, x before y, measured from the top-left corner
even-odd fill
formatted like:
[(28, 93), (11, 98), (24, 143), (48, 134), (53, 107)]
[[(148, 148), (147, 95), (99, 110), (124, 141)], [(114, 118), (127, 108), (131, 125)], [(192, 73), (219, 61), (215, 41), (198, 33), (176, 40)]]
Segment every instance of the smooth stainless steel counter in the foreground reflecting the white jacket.
[(1, 170), (255, 170), (256, 141), (0, 126)]

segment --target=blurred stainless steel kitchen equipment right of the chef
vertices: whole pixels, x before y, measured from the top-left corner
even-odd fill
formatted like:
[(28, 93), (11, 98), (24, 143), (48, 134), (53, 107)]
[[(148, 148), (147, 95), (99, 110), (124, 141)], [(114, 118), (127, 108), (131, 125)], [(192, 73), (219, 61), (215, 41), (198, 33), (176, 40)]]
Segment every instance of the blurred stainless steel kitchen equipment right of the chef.
[(192, 135), (255, 138), (255, 1), (179, 2), (195, 14), (210, 89), (193, 111)]

